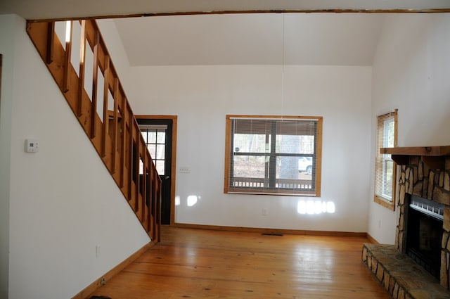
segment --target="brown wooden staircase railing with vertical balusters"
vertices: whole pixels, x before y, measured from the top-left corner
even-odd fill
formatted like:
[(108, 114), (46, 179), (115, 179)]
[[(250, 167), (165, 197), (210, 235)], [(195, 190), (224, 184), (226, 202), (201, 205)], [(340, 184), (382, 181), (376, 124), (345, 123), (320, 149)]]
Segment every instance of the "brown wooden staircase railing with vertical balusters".
[[(159, 242), (161, 180), (96, 20), (28, 21), (27, 33), (136, 217)], [(75, 44), (79, 56), (72, 55)]]

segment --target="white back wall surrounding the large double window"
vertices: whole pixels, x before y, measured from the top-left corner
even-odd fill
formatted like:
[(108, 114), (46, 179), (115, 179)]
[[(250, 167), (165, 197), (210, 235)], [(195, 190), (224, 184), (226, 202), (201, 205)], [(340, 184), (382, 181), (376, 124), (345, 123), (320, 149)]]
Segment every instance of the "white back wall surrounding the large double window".
[[(136, 114), (178, 115), (176, 222), (236, 227), (366, 231), (371, 68), (280, 65), (134, 67), (127, 95)], [(224, 194), (225, 115), (323, 116), (320, 198)], [(178, 168), (179, 168), (178, 167)], [(366, 175), (361, 175), (366, 174)], [(200, 196), (192, 207), (188, 196)], [(304, 200), (335, 213), (300, 215)], [(262, 216), (262, 209), (269, 215)]]

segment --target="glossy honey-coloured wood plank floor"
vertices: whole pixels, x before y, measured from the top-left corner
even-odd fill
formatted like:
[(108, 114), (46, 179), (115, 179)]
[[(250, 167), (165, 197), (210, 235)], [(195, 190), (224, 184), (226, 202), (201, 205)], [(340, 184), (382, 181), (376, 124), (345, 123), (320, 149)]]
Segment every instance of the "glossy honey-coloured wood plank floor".
[(366, 238), (163, 227), (93, 295), (146, 298), (390, 298), (361, 263)]

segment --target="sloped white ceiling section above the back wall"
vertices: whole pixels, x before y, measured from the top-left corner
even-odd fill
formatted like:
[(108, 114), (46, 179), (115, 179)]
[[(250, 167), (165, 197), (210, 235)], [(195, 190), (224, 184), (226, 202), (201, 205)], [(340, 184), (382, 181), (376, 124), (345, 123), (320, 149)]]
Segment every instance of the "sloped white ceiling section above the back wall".
[(384, 14), (116, 19), (131, 65), (372, 65)]

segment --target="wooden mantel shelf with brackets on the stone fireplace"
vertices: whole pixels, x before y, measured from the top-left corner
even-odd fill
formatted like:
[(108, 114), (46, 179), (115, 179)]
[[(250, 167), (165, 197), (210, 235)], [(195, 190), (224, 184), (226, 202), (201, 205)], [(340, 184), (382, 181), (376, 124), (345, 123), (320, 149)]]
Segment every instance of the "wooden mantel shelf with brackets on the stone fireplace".
[(450, 156), (450, 146), (414, 146), (414, 147), (394, 147), (380, 148), (380, 153), (390, 154), (392, 160), (398, 165), (409, 163), (411, 155), (419, 155), (423, 163), (433, 169), (445, 168), (445, 157)]

